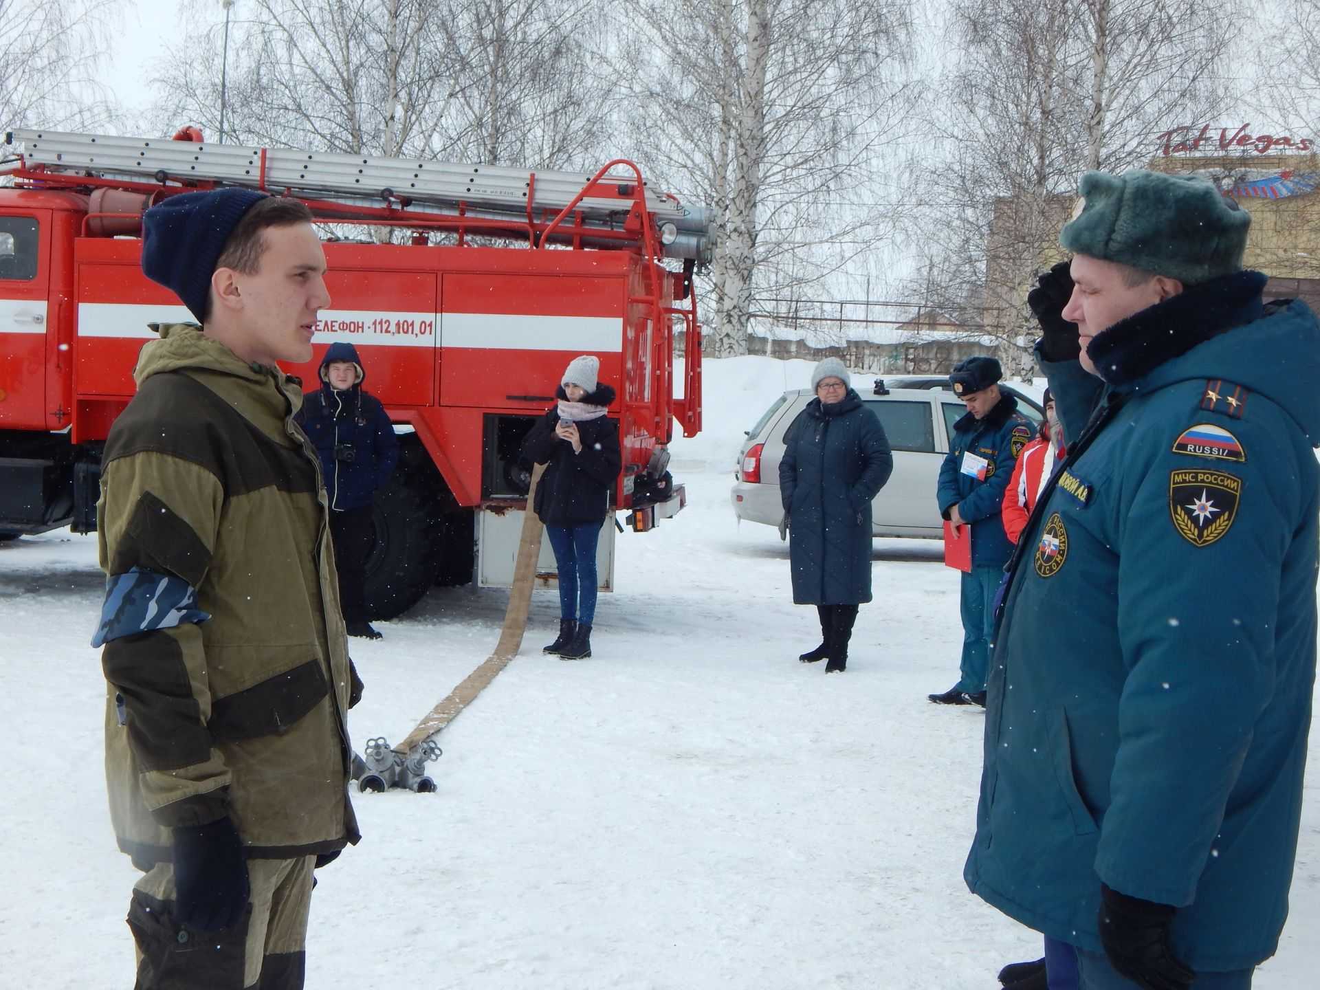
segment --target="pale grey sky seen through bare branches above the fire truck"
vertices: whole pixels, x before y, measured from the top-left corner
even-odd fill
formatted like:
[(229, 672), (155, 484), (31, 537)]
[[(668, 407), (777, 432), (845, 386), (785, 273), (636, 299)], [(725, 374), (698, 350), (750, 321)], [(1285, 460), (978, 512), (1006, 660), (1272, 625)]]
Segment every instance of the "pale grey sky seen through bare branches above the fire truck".
[[(744, 348), (771, 298), (869, 293), (1020, 318), (1057, 232), (1051, 197), (1085, 168), (1139, 165), (1177, 124), (1320, 131), (1317, 0), (235, 0), (230, 13), (226, 140), (581, 170), (632, 157), (714, 206), (721, 253), (701, 288), (721, 354)], [(223, 20), (218, 0), (0, 0), (0, 115), (215, 136)], [(104, 84), (125, 59), (152, 107)], [(995, 197), (1014, 203), (1020, 243), (987, 273)]]

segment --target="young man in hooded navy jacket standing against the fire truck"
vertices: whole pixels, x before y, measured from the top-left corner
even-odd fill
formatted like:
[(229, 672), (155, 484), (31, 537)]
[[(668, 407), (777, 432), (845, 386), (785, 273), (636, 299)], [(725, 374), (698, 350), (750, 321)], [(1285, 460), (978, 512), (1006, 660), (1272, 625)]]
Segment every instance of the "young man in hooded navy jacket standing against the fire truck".
[(380, 400), (362, 388), (358, 350), (333, 343), (321, 359), (322, 385), (302, 405), (302, 428), (321, 455), (339, 601), (350, 636), (380, 639), (367, 611), (367, 558), (376, 543), (371, 503), (399, 461), (395, 428)]

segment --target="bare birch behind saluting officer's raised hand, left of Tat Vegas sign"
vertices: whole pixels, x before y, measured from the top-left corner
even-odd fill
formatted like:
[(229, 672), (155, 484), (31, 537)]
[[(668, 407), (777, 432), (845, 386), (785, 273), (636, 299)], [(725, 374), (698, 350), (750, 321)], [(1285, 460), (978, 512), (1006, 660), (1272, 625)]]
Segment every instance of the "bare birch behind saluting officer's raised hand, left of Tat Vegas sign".
[(1229, 25), (1222, 0), (957, 0), (945, 152), (923, 173), (945, 202), (924, 239), (932, 302), (978, 300), (1010, 363), (1024, 360), (1026, 293), (1081, 173), (1139, 166), (1162, 131), (1217, 112)]

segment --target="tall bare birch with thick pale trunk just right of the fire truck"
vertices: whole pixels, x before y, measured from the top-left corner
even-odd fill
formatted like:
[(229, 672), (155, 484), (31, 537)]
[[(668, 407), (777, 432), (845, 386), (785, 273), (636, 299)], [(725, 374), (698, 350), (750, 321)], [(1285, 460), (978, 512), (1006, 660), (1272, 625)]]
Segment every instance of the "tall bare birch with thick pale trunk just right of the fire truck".
[[(866, 249), (855, 206), (906, 108), (907, 0), (627, 0), (614, 54), (639, 157), (719, 215), (711, 351), (743, 354), (754, 293)], [(813, 251), (818, 247), (818, 251)], [(708, 310), (709, 312), (709, 310)]]

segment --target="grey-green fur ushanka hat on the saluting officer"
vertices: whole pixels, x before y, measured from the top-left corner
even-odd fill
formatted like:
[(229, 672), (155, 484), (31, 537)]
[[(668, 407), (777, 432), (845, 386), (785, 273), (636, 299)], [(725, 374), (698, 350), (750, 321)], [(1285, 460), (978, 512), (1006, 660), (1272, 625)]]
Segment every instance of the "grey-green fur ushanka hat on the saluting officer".
[(1251, 215), (1206, 178), (1127, 172), (1081, 177), (1081, 211), (1059, 243), (1074, 255), (1197, 285), (1242, 271)]

